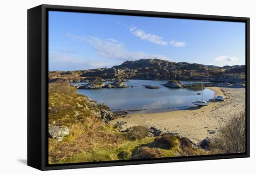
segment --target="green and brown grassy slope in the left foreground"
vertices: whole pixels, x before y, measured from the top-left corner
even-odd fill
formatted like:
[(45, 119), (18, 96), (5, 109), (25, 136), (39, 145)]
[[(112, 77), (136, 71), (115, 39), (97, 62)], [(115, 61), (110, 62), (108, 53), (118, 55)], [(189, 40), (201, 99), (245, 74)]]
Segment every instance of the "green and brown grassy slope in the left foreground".
[(70, 134), (61, 142), (48, 139), (50, 164), (133, 159), (135, 148), (140, 147), (147, 147), (146, 151), (153, 157), (209, 154), (202, 149), (182, 147), (180, 137), (174, 138), (173, 146), (166, 149), (154, 144), (157, 137), (145, 135), (134, 139), (119, 132), (96, 117), (99, 108), (91, 107), (67, 82), (49, 84), (48, 108), (49, 125), (65, 125), (70, 129)]

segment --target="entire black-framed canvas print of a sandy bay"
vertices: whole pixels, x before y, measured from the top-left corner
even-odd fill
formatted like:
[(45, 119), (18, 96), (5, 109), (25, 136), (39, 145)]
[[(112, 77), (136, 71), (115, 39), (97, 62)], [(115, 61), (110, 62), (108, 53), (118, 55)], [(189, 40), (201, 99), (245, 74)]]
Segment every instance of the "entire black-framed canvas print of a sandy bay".
[(249, 18), (27, 11), (27, 164), (249, 157)]

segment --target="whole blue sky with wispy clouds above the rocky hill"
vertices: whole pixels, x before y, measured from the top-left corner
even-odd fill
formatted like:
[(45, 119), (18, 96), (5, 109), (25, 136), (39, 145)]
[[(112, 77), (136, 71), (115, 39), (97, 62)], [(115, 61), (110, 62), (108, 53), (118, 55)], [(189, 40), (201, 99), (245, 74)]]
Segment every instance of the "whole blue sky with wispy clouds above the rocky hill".
[(143, 58), (245, 64), (245, 23), (49, 12), (49, 70), (112, 67)]

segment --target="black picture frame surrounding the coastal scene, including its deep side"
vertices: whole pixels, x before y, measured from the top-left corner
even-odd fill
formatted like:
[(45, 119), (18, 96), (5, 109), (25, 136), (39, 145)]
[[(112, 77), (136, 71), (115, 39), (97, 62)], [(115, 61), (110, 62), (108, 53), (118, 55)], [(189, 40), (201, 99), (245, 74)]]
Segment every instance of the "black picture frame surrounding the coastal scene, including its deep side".
[[(246, 26), (246, 152), (143, 160), (49, 165), (48, 162), (48, 11), (149, 16), (176, 19), (244, 22)], [(249, 18), (186, 13), (149, 12), (92, 7), (40, 5), (27, 10), (27, 165), (40, 170), (90, 168), (163, 162), (201, 161), (249, 157)]]

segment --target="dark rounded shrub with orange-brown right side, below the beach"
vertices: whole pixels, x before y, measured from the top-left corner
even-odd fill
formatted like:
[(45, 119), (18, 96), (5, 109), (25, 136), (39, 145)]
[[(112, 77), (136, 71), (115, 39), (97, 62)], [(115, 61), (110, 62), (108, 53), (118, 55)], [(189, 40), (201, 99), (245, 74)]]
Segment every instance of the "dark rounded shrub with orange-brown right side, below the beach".
[(162, 136), (155, 138), (154, 146), (156, 148), (171, 149), (178, 145), (180, 137), (177, 135), (163, 134)]

